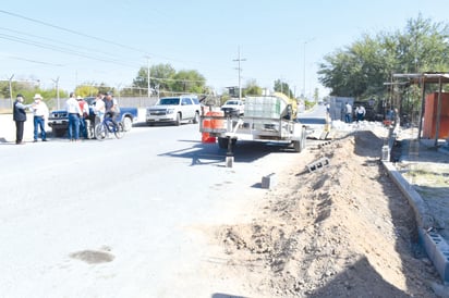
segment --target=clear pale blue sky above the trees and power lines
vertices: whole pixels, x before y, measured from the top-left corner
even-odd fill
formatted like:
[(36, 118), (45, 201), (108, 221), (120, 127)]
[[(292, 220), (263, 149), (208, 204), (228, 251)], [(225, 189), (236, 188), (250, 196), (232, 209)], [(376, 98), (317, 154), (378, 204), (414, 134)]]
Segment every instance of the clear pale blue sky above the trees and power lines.
[[(141, 67), (195, 70), (217, 94), (250, 80), (299, 96), (324, 88), (324, 57), (420, 13), (447, 23), (449, 0), (9, 0), (0, 8), (0, 80), (71, 91), (130, 86)], [(240, 75), (239, 75), (240, 69)]]

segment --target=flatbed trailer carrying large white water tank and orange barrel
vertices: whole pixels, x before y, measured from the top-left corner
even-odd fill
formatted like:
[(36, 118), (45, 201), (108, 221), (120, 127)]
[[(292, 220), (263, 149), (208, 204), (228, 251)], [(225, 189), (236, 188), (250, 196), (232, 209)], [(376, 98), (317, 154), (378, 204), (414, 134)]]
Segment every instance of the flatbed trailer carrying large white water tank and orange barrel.
[(295, 104), (283, 95), (247, 97), (243, 116), (201, 116), (199, 132), (218, 138), (218, 146), (231, 151), (238, 140), (277, 142), (301, 152), (305, 148), (305, 126), (295, 120)]

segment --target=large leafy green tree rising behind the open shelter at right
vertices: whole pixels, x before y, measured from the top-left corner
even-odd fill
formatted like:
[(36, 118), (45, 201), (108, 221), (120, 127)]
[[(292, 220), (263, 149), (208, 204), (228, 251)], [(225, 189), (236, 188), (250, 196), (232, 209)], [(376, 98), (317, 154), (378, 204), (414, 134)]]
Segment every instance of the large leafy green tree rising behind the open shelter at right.
[(392, 73), (447, 71), (448, 37), (448, 25), (433, 24), (422, 15), (408, 21), (403, 32), (363, 35), (324, 58), (319, 82), (332, 96), (387, 97), (384, 83)]

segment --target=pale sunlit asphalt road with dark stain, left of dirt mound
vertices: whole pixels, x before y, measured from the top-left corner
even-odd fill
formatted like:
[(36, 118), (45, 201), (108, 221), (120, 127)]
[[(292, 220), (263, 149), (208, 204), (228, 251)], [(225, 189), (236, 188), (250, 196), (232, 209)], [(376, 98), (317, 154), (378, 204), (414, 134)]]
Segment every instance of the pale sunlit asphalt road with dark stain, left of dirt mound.
[(2, 139), (2, 297), (227, 293), (198, 271), (210, 257), (198, 226), (250, 216), (269, 191), (262, 177), (301, 154), (242, 144), (226, 167), (226, 151), (192, 124), (134, 127), (120, 140)]

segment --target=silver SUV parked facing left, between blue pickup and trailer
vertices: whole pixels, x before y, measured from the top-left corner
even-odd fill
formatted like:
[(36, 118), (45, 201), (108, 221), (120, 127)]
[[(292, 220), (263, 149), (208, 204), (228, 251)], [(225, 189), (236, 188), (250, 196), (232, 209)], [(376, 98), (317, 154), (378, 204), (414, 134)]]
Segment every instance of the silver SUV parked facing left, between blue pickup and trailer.
[(190, 121), (198, 123), (201, 104), (197, 96), (183, 95), (175, 97), (163, 97), (155, 105), (146, 109), (146, 123), (174, 123)]

